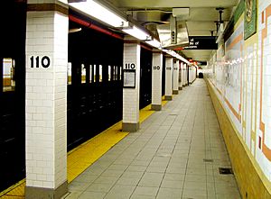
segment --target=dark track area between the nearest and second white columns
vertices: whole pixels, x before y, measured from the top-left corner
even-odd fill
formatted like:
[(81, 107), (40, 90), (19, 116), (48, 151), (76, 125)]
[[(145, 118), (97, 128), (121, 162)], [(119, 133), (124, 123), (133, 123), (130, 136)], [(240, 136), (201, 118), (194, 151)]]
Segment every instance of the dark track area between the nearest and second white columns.
[[(70, 27), (79, 25), (70, 22)], [(68, 149), (122, 119), (123, 40), (81, 28), (69, 34)], [(86, 70), (83, 82), (82, 64)]]

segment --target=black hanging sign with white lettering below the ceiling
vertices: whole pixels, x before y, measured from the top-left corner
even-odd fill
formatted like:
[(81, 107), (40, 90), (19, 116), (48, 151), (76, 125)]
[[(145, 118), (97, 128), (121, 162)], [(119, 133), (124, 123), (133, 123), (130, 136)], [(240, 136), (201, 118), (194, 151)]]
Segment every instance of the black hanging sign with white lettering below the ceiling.
[(214, 36), (190, 36), (189, 46), (182, 50), (217, 50), (218, 44)]

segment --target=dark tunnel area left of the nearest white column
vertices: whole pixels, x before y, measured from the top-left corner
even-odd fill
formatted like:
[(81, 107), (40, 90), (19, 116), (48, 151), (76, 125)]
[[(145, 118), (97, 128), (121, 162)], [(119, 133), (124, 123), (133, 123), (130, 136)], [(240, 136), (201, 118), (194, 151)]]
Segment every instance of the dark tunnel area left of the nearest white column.
[[(3, 1), (0, 12), (0, 192), (25, 176), (25, 25), (26, 4)], [(5, 29), (5, 31), (4, 31)], [(3, 81), (4, 59), (14, 61), (14, 86)]]

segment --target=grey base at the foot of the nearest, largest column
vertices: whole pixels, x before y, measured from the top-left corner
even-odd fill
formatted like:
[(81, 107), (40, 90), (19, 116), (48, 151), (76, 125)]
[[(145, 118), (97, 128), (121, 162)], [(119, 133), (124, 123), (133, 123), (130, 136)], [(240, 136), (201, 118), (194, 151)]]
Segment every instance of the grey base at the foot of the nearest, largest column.
[(68, 181), (65, 181), (62, 185), (56, 189), (42, 188), (35, 186), (25, 186), (25, 199), (60, 199), (64, 194), (68, 193)]

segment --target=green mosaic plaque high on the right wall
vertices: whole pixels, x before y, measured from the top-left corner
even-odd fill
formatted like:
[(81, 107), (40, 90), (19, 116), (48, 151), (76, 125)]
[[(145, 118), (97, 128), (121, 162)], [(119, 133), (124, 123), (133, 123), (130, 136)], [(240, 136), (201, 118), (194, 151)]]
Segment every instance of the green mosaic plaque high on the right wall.
[(247, 40), (257, 32), (257, 0), (245, 0), (245, 31), (244, 39)]

